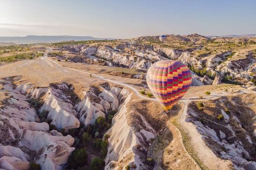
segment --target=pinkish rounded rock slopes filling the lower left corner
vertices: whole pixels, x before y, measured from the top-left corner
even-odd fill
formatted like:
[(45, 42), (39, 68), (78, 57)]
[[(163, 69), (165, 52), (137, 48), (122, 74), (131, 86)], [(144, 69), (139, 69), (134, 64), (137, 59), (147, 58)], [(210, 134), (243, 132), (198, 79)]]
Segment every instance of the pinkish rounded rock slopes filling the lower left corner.
[(32, 85), (15, 88), (8, 79), (1, 80), (1, 85), (5, 99), (0, 109), (0, 168), (28, 170), (28, 160), (34, 160), (42, 170), (61, 169), (75, 149), (71, 147), (74, 138), (53, 136), (48, 123), (37, 122), (37, 112), (27, 102), (30, 93), (24, 93)]

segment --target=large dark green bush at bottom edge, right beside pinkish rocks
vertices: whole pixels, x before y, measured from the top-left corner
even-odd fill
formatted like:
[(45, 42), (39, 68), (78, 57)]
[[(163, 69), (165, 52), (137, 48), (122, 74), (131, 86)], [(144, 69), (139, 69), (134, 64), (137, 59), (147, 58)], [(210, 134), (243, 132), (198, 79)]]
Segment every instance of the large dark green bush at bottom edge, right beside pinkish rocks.
[(83, 167), (86, 165), (87, 153), (85, 148), (76, 149), (69, 157), (68, 157), (68, 169), (78, 169), (79, 167)]

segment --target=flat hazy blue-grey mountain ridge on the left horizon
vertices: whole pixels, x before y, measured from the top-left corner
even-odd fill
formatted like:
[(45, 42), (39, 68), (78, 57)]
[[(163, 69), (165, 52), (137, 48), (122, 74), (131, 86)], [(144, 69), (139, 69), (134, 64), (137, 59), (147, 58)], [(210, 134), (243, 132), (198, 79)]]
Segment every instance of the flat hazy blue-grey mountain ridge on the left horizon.
[(34, 44), (53, 43), (61, 41), (82, 41), (82, 40), (102, 40), (115, 38), (95, 38), (92, 36), (70, 36), (70, 35), (27, 35), (27, 36), (0, 36), (0, 43)]

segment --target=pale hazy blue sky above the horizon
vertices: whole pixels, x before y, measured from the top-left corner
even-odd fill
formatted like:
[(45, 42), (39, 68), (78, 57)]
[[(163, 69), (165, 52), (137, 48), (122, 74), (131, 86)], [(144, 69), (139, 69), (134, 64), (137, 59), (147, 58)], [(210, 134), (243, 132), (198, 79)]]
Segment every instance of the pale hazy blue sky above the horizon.
[(256, 34), (256, 0), (0, 0), (0, 36)]

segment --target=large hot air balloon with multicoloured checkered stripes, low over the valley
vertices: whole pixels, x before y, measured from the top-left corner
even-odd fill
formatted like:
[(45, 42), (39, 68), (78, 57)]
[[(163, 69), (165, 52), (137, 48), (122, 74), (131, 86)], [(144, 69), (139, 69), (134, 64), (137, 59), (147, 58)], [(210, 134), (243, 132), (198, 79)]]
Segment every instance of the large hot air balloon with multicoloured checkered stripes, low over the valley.
[(147, 72), (148, 87), (166, 112), (185, 95), (191, 82), (190, 69), (178, 61), (158, 61)]

